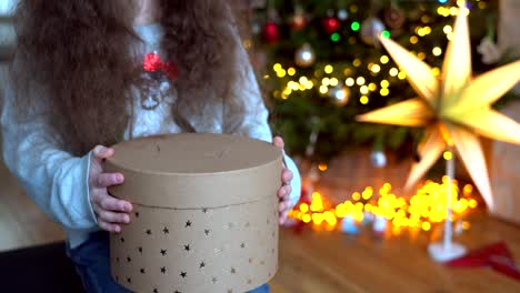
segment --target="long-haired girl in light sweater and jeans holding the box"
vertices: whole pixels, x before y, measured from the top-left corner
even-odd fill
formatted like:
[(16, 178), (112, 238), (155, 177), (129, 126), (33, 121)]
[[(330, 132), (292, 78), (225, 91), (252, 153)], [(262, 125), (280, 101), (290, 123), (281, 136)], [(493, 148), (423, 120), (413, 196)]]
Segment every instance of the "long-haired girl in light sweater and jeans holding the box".
[[(108, 232), (130, 222), (132, 204), (107, 193), (124, 178), (103, 172), (113, 150), (102, 145), (179, 132), (271, 141), (237, 7), (231, 0), (20, 1), (1, 117), (3, 158), (63, 226), (88, 292), (128, 292), (110, 276)], [(280, 138), (273, 143), (283, 148)], [(300, 190), (294, 163), (287, 156), (286, 163), (280, 223)]]

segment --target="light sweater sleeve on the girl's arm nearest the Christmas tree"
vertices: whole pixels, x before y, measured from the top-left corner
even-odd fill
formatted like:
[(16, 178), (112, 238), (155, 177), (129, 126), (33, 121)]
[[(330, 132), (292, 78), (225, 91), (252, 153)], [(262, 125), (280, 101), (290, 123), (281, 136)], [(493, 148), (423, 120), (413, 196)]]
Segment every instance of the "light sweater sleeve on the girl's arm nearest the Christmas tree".
[[(272, 142), (272, 133), (268, 123), (268, 109), (266, 108), (266, 104), (262, 100), (257, 78), (254, 77), (251, 63), (249, 62), (248, 53), (242, 46), (239, 47), (238, 65), (242, 70), (243, 82), (237, 85), (237, 90), (242, 97), (244, 97), (246, 100), (246, 118), (243, 122), (244, 127), (249, 129), (249, 137), (267, 142)], [(294, 161), (287, 154), (284, 154), (284, 163), (293, 174), (293, 179), (291, 181), (292, 192), (290, 194), (290, 208), (292, 208), (300, 199), (301, 178)]]

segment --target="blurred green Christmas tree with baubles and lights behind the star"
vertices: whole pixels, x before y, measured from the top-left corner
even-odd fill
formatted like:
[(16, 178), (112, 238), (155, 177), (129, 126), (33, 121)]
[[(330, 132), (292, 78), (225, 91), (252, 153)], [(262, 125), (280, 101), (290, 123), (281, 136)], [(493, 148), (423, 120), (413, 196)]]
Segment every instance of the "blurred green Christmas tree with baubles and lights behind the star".
[[(473, 71), (490, 69), (477, 48), (493, 41), (491, 0), (253, 1), (254, 64), (272, 108), (272, 127), (292, 153), (327, 162), (349, 148), (413, 153), (420, 130), (358, 123), (356, 115), (416, 97), (380, 46), (392, 38), (439, 74), (454, 16), (469, 8)], [(251, 43), (247, 41), (246, 47)], [(486, 60), (484, 60), (486, 61)], [(502, 101), (507, 101), (503, 99)]]

